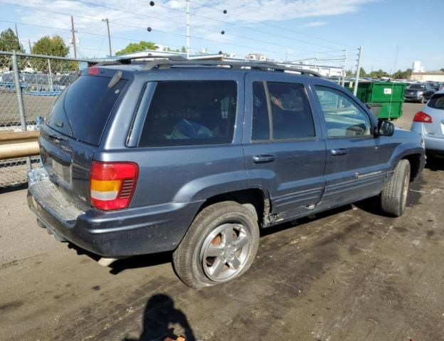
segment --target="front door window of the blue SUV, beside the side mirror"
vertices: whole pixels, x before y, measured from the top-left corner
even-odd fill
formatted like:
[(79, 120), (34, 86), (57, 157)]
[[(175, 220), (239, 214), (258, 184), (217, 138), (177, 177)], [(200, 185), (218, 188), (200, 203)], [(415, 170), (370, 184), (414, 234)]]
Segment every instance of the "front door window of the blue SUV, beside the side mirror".
[(351, 102), (347, 95), (322, 86), (316, 86), (316, 95), (322, 107), (328, 137), (372, 135), (369, 115)]

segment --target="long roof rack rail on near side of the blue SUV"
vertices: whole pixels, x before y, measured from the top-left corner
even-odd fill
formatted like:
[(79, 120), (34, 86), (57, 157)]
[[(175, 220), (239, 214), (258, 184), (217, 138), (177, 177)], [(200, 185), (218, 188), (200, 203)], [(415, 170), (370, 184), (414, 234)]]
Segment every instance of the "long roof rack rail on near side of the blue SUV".
[[(146, 58), (146, 57), (144, 57)], [(125, 60), (127, 61), (127, 60)], [(171, 68), (171, 66), (228, 66), (230, 68), (251, 68), (255, 70), (275, 70), (275, 71), (293, 71), (302, 75), (313, 75), (322, 77), (319, 73), (303, 68), (295, 68), (294, 66), (280, 65), (274, 62), (252, 62), (252, 61), (208, 61), (208, 60), (188, 60), (183, 57), (174, 58), (157, 58), (147, 61), (142, 70), (152, 70), (153, 68)]]

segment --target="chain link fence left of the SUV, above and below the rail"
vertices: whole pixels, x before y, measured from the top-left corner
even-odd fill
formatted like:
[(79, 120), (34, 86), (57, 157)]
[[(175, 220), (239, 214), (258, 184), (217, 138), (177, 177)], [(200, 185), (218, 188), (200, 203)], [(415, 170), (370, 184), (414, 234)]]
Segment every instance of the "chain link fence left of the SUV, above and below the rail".
[[(58, 95), (88, 61), (0, 52), (0, 134), (38, 130)], [(1, 148), (1, 145), (0, 145)], [(39, 158), (0, 159), (0, 189), (26, 182)]]

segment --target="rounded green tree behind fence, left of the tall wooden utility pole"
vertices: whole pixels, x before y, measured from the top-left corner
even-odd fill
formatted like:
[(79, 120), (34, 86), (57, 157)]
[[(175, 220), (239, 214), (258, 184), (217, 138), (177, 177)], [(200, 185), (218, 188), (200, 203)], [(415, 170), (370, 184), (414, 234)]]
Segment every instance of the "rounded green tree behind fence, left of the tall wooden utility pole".
[[(66, 57), (69, 53), (69, 46), (60, 36), (44, 36), (34, 44), (31, 52), (38, 55)], [(51, 59), (51, 73), (64, 73), (67, 71), (78, 70), (78, 63), (74, 61), (61, 61)], [(42, 58), (31, 58), (33, 69), (43, 72), (49, 72), (48, 60)]]

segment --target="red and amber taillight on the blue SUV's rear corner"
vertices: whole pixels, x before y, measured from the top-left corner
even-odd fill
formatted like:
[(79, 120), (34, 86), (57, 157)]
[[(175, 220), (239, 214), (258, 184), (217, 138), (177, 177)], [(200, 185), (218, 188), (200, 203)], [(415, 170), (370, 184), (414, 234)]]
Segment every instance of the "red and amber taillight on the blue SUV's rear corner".
[(126, 209), (136, 189), (139, 166), (134, 162), (91, 163), (91, 205), (96, 209)]

